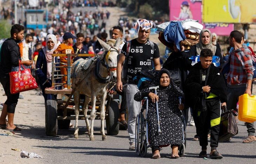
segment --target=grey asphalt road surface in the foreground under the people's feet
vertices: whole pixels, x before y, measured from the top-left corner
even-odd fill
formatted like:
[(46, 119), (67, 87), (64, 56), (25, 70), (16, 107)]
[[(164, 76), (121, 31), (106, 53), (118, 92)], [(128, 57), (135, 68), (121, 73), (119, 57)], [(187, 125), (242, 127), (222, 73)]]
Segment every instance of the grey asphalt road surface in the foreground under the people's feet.
[[(148, 149), (146, 157), (138, 156), (134, 151), (128, 151), (128, 132), (120, 131), (118, 135), (107, 136), (107, 141), (101, 141), (99, 120), (96, 121), (95, 141), (90, 141), (85, 128), (80, 128), (79, 138), (74, 139), (74, 130), (59, 130), (56, 137), (45, 136), (44, 128), (31, 127), (35, 138), (43, 140), (34, 147), (43, 149), (46, 158), (40, 159), (42, 163), (255, 163), (256, 143), (245, 144), (242, 140), (248, 135), (243, 122), (238, 123), (239, 133), (231, 142), (219, 143), (217, 150), (223, 155), (223, 159), (206, 160), (198, 158), (200, 146), (198, 141), (193, 141), (195, 127), (187, 126), (187, 146), (184, 157), (171, 159), (171, 148), (161, 150), (160, 159), (151, 159), (151, 149)], [(84, 126), (84, 122), (79, 122)], [(96, 124), (96, 125), (97, 125)], [(31, 132), (31, 131), (30, 131)], [(31, 135), (31, 133), (30, 133)], [(209, 143), (210, 144), (210, 143)], [(208, 156), (210, 147), (208, 146)]]

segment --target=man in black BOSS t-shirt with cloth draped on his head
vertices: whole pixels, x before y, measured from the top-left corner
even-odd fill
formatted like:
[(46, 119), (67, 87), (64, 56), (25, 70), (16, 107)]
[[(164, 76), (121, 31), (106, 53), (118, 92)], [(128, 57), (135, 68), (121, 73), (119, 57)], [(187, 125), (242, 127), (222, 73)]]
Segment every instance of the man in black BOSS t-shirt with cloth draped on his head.
[(116, 88), (118, 91), (122, 91), (122, 67), (123, 62), (127, 58), (127, 89), (126, 89), (126, 101), (128, 108), (128, 133), (130, 140), (129, 150), (135, 150), (135, 125), (136, 125), (136, 115), (140, 110), (140, 102), (134, 100), (134, 95), (139, 92), (137, 85), (133, 82), (133, 77), (138, 71), (141, 70), (160, 70), (160, 58), (158, 46), (154, 43), (154, 50), (152, 49), (150, 41), (148, 40), (151, 28), (153, 26), (152, 21), (145, 19), (139, 19), (135, 23), (135, 30), (138, 34), (136, 39), (131, 40), (129, 45), (130, 51), (127, 53), (127, 44), (124, 44), (120, 58), (117, 63), (117, 84)]

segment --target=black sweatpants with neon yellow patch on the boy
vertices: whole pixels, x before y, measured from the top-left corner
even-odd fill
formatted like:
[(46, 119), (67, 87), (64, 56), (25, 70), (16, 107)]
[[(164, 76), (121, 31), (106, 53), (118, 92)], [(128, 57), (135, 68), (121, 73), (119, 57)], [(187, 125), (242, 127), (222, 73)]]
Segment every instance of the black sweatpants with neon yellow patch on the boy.
[(211, 150), (216, 150), (218, 147), (218, 136), (220, 132), (221, 121), (221, 104), (220, 100), (211, 99), (206, 100), (207, 110), (204, 112), (197, 112), (197, 123), (199, 127), (200, 146), (202, 150), (207, 149), (208, 145), (208, 129), (211, 129)]

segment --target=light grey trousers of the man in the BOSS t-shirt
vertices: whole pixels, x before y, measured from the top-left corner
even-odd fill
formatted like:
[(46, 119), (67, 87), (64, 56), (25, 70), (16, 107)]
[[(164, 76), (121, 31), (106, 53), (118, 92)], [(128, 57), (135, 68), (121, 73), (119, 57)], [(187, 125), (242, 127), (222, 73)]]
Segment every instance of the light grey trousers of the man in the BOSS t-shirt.
[(126, 102), (128, 109), (128, 133), (130, 145), (135, 143), (135, 126), (136, 126), (136, 116), (140, 111), (141, 102), (134, 100), (134, 95), (139, 92), (137, 85), (127, 84), (126, 89)]

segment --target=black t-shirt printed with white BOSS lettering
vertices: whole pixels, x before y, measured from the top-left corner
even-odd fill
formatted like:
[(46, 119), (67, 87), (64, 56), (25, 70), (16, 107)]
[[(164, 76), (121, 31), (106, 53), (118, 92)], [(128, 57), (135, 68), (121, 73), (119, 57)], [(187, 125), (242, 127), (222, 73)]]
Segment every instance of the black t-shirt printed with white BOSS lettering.
[[(131, 40), (130, 52), (127, 57), (127, 83), (134, 84), (133, 77), (138, 71), (153, 69), (153, 59), (159, 58), (158, 46), (154, 43), (153, 51), (149, 40), (139, 43), (136, 39)], [(127, 44), (123, 45), (121, 53), (127, 56)]]

